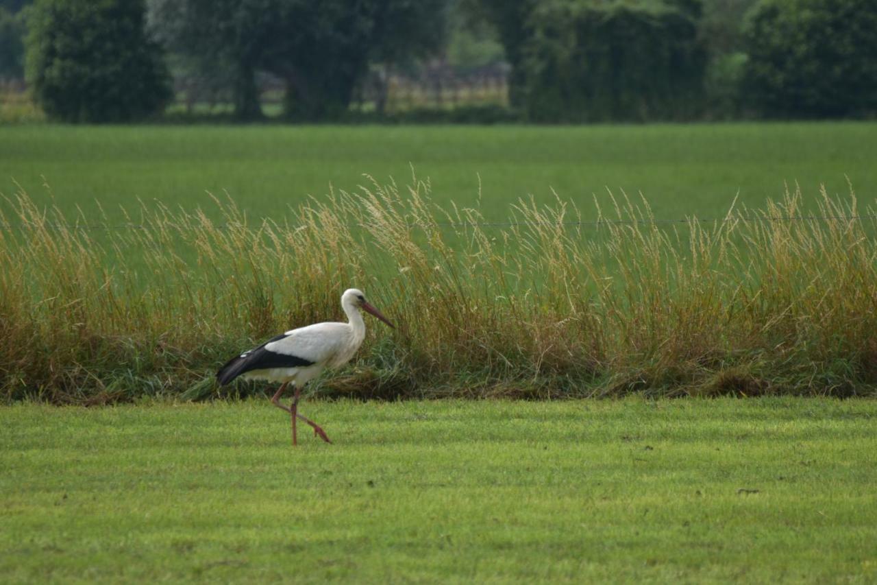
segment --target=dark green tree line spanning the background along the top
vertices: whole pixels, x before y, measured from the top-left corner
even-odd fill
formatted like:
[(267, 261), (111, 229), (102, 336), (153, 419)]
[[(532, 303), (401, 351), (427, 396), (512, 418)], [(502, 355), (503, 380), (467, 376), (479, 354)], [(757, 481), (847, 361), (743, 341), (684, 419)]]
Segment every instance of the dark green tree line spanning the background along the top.
[(286, 118), (344, 119), (375, 69), (478, 31), (525, 121), (872, 117), (875, 30), (877, 0), (3, 0), (0, 77), (65, 121), (154, 116), (171, 70), (239, 119), (262, 115), (264, 74)]

